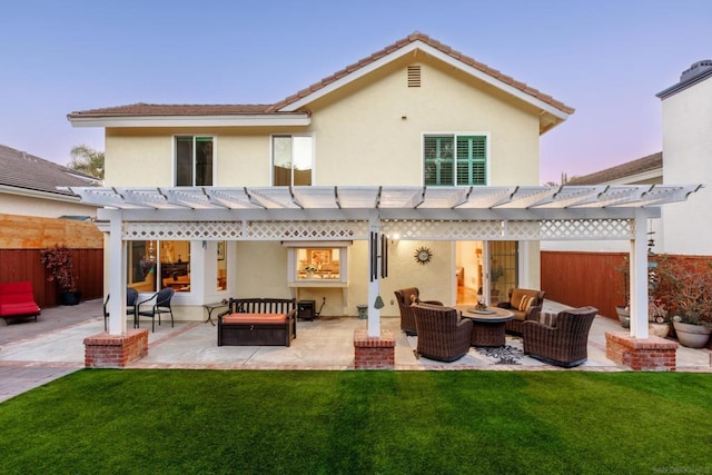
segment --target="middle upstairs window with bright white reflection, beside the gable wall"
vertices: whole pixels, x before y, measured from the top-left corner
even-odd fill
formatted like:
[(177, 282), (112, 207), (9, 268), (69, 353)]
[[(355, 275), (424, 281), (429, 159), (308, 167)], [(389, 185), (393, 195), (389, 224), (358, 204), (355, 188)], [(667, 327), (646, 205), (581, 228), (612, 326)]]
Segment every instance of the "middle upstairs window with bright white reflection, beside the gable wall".
[(273, 136), (274, 186), (312, 185), (313, 144), (310, 136)]

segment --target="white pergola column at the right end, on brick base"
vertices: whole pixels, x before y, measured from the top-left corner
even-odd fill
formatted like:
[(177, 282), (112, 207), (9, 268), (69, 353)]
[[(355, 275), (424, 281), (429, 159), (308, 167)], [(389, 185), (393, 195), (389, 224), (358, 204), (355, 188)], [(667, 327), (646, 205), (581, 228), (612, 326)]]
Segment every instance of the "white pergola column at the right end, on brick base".
[(634, 238), (631, 240), (631, 336), (647, 338), (647, 217), (635, 212)]

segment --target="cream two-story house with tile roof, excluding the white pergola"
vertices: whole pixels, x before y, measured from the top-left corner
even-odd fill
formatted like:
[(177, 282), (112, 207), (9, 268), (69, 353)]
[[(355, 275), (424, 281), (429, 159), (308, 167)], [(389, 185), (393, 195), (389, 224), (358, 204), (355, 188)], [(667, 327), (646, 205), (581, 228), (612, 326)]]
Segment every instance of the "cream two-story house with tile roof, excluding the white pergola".
[[(106, 129), (110, 187), (535, 186), (540, 136), (572, 112), (414, 33), (273, 105), (136, 103), (77, 111), (69, 120)], [(268, 196), (248, 200), (271, 205)], [(402, 287), (454, 303), (458, 283), (473, 294), (538, 285), (536, 241), (392, 234), (384, 315), (397, 315), (388, 296)], [(182, 318), (201, 317), (200, 304), (236, 295), (297, 295), (317, 304), (326, 297), (325, 315), (356, 315), (356, 305), (367, 301), (368, 270), (360, 263), (368, 241), (345, 237), (131, 238), (127, 279), (147, 293), (174, 286)], [(417, 249), (429, 259), (418, 261)], [(490, 263), (496, 278), (485, 281)]]

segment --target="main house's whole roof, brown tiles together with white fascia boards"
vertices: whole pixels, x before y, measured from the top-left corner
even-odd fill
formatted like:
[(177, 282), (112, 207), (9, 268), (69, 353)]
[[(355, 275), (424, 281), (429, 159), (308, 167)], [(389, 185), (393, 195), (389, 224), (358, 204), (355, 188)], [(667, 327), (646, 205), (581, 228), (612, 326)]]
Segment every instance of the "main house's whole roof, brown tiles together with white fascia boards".
[[(274, 105), (135, 103), (129, 106), (75, 111), (69, 113), (67, 118), (75, 126), (89, 127), (134, 127), (137, 125), (136, 120), (141, 117), (170, 117), (174, 121), (171, 123), (156, 122), (157, 126), (170, 126), (179, 125), (179, 118), (186, 116), (211, 118), (222, 117), (224, 119), (228, 118), (229, 121), (235, 125), (259, 125), (255, 121), (259, 120), (260, 116), (271, 116), (273, 122), (270, 123), (308, 125), (309, 112), (306, 109), (306, 106), (309, 102), (415, 50), (424, 51), (426, 55), (431, 55), (444, 62), (447, 62), (466, 73), (507, 92), (511, 96), (517, 97), (521, 100), (542, 109), (544, 112), (541, 115), (540, 130), (542, 133), (561, 123), (574, 112), (573, 108), (554, 99), (552, 96), (543, 93), (524, 82), (517, 81), (496, 69), (490, 68), (488, 66), (478, 62), (435, 39), (432, 39), (427, 34), (415, 32)], [(123, 118), (125, 120), (117, 120), (118, 118)], [(275, 120), (290, 120), (290, 122), (281, 123), (275, 122)], [(268, 122), (265, 122), (265, 120), (261, 119), (260, 123), (266, 125)]]

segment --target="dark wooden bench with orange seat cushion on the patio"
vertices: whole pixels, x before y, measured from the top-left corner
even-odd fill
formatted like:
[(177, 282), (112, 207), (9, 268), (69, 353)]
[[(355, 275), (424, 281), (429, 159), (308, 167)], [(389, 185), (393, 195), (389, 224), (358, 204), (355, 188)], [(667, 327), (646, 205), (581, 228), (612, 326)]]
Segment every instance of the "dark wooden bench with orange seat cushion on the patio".
[(296, 316), (294, 298), (230, 298), (218, 316), (218, 346), (289, 346)]

